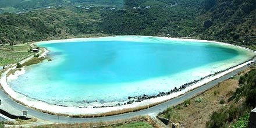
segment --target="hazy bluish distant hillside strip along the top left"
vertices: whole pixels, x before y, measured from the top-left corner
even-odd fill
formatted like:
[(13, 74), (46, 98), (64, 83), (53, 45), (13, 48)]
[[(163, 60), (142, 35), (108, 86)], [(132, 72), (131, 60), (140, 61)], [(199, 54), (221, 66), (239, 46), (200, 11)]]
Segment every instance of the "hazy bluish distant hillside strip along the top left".
[(56, 6), (116, 6), (122, 7), (122, 0), (0, 0), (0, 13), (20, 13), (29, 10)]

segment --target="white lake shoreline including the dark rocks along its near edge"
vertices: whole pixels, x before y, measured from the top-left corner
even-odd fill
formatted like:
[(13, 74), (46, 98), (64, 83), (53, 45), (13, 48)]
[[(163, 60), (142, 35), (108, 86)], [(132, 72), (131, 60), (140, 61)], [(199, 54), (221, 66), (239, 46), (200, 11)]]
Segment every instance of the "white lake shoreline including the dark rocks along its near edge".
[[(129, 37), (129, 36), (127, 36), (127, 37)], [(167, 37), (159, 37), (159, 38), (167, 38)], [(75, 38), (75, 39), (77, 39), (77, 38)], [(69, 40), (74, 41), (75, 39), (69, 39)], [(81, 40), (81, 39), (84, 40), (84, 38), (79, 38), (79, 40)], [(172, 40), (173, 38), (169, 38), (169, 39)], [(175, 39), (176, 40), (181, 40), (180, 38), (175, 38)], [(175, 40), (175, 39), (173, 39), (173, 40)], [(198, 41), (198, 40), (191, 40), (191, 39), (182, 39), (182, 40)], [(205, 41), (205, 40), (200, 40), (200, 41), (201, 42), (208, 42), (208, 41)], [(209, 42), (215, 42), (215, 41), (209, 41)], [(226, 43), (223, 43), (223, 42), (218, 42), (218, 43), (226, 44)], [(230, 45), (230, 44), (227, 44), (227, 45)], [(44, 54), (44, 56), (47, 55), (47, 52)], [(113, 106), (111, 106), (111, 105), (107, 105), (107, 106), (99, 105), (97, 102), (95, 102), (94, 106), (84, 108), (84, 106), (52, 105), (52, 104), (47, 104), (46, 102), (38, 101), (37, 99), (31, 99), (29, 97), (26, 97), (26, 95), (17, 94), (15, 91), (12, 90), (12, 88), (9, 87), (9, 85), (6, 81), (6, 76), (5, 76), (7, 74), (7, 72), (9, 72), (8, 70), (5, 72), (6, 74), (5, 73), (2, 74), (0, 83), (3, 86), (4, 90), (5, 91), (7, 90), (6, 92), (10, 95), (10, 97), (16, 99), (17, 101), (23, 102), (24, 104), (26, 104), (28, 106), (31, 106), (33, 108), (37, 108), (37, 109), (41, 109), (41, 110), (49, 111), (49, 112), (55, 112), (55, 113), (65, 113), (65, 114), (69, 114), (69, 115), (95, 114), (95, 113), (118, 111), (118, 110), (128, 109), (128, 108), (135, 108), (135, 107), (138, 107), (138, 106), (150, 105), (150, 104), (154, 104), (156, 102), (161, 102), (161, 101), (163, 102), (163, 101), (175, 98), (175, 97), (177, 97), (179, 95), (182, 95), (182, 94), (184, 94), (184, 93), (186, 93), (190, 90), (193, 90), (194, 88), (203, 86), (204, 84), (208, 83), (209, 81), (218, 79), (219, 77), (224, 76), (225, 74), (227, 74), (229, 72), (232, 72), (233, 70), (236, 70), (236, 69), (238, 69), (242, 66), (245, 66), (247, 64), (247, 62), (243, 62), (243, 63), (240, 63), (239, 65), (229, 67), (228, 69), (223, 70), (222, 72), (215, 73), (214, 75), (209, 75), (208, 77), (204, 77), (203, 79), (192, 81), (192, 83), (190, 82), (189, 84), (184, 85), (184, 86), (186, 86), (184, 88), (183, 87), (176, 88), (176, 91), (172, 91), (172, 93), (163, 92), (163, 93), (157, 95), (157, 97), (148, 96), (148, 95), (143, 95), (143, 96), (138, 96), (138, 97), (130, 97), (130, 99), (136, 99), (137, 98), (138, 101), (137, 102), (131, 102), (130, 104), (122, 103), (123, 105), (118, 104), (118, 105), (113, 105)], [(20, 72), (16, 72), (15, 75), (19, 76), (19, 73)], [(175, 93), (173, 93), (173, 92), (175, 92)]]

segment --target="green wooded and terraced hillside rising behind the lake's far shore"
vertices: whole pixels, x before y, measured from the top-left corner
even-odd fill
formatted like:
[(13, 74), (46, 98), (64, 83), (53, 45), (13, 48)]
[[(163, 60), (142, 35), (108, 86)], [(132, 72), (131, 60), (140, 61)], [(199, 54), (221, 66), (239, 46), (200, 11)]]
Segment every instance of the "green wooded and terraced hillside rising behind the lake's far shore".
[[(97, 2), (102, 1), (93, 3)], [(49, 2), (56, 3), (58, 1)], [(256, 41), (254, 0), (125, 0), (124, 4), (123, 8), (69, 5), (18, 15), (3, 13), (0, 15), (0, 40), (16, 44), (74, 35), (114, 34), (200, 38), (250, 47), (254, 47)]]

